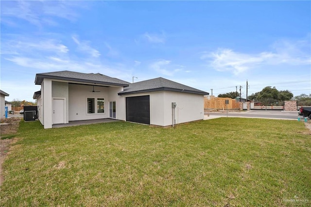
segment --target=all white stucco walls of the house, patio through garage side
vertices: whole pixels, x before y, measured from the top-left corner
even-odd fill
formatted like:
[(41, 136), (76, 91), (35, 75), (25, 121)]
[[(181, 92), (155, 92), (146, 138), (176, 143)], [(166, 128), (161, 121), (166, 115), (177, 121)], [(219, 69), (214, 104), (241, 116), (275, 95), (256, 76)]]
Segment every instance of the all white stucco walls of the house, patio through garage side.
[[(39, 106), (39, 120), (44, 125), (44, 128), (52, 128), (53, 97), (64, 98), (66, 100), (66, 123), (69, 121), (109, 118), (109, 102), (111, 101), (116, 102), (116, 119), (125, 121), (126, 97), (143, 95), (150, 96), (150, 124), (152, 125), (172, 125), (172, 102), (177, 104), (175, 108), (176, 124), (203, 120), (204, 118), (203, 95), (157, 91), (119, 96), (118, 93), (123, 90), (121, 86), (95, 86), (95, 91), (100, 92), (92, 92), (92, 89), (93, 87), (91, 85), (69, 84), (66, 82), (44, 79), (41, 85), (42, 93), (37, 100), (37, 105)], [(87, 113), (87, 98), (95, 99), (95, 113)], [(97, 98), (104, 98), (104, 113), (97, 113)]]

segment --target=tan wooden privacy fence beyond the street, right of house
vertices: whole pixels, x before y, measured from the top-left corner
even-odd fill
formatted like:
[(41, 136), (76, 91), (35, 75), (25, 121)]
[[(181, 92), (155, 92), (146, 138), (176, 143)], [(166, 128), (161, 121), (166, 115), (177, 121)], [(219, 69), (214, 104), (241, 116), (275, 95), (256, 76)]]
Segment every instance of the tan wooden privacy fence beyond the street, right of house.
[(235, 99), (215, 96), (204, 97), (204, 108), (226, 109), (225, 100), (229, 100), (228, 109), (240, 109), (240, 104)]

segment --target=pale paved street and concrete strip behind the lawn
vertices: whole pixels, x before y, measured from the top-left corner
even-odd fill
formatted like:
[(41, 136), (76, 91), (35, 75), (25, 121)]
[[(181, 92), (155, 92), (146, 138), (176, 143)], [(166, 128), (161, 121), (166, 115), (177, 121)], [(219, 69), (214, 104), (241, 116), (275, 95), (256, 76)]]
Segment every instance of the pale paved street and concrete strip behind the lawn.
[[(205, 115), (205, 119), (213, 119), (218, 117), (226, 117), (227, 113), (226, 111), (205, 112)], [(228, 117), (297, 120), (298, 112), (250, 110), (241, 112), (228, 112)], [(300, 118), (302, 119), (302, 117)]]

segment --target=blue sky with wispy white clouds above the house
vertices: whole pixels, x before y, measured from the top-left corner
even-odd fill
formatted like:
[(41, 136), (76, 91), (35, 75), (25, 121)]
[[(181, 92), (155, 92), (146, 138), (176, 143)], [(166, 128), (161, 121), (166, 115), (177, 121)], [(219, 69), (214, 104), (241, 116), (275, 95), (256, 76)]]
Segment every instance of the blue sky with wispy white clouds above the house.
[(33, 101), (35, 74), (167, 78), (213, 95), (311, 93), (311, 1), (1, 1), (1, 89)]

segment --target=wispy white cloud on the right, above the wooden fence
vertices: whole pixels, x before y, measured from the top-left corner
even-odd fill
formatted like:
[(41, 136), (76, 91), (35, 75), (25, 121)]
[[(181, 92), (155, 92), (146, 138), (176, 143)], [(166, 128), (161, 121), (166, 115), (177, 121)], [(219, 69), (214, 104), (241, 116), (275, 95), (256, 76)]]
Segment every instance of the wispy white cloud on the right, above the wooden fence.
[(278, 41), (273, 45), (272, 51), (253, 54), (218, 49), (215, 52), (203, 52), (201, 59), (207, 60), (211, 68), (230, 71), (235, 75), (259, 65), (308, 65), (311, 64), (310, 51), (306, 52), (304, 47), (310, 45), (310, 40), (302, 42), (303, 44), (300, 41)]

